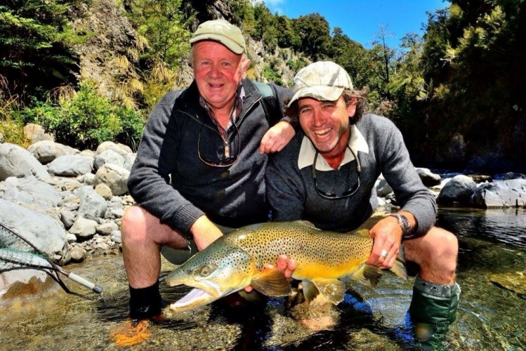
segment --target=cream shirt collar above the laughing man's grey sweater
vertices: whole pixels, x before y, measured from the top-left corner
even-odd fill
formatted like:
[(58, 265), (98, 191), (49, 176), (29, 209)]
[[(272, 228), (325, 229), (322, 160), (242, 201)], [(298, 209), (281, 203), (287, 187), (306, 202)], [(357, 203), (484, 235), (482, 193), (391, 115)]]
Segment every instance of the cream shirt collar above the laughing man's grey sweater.
[[(367, 141), (365, 140), (364, 136), (360, 131), (358, 131), (358, 128), (356, 128), (355, 125), (350, 126), (350, 138), (349, 138), (349, 147), (355, 154), (358, 154), (357, 152), (364, 152), (366, 154), (369, 154), (369, 146), (367, 145)], [(338, 166), (338, 169), (341, 168), (344, 164), (348, 164), (350, 161), (353, 161), (355, 157), (353, 156), (353, 152), (350, 152), (350, 150), (346, 147), (346, 153), (343, 156), (343, 160), (341, 161), (341, 164)], [(302, 169), (308, 166), (312, 166), (314, 162), (314, 157), (316, 154), (316, 148), (314, 147), (313, 143), (310, 141), (307, 136), (303, 137), (303, 140), (301, 141), (301, 148), (298, 155), (298, 168)], [(323, 157), (318, 157), (316, 160), (316, 169), (318, 171), (334, 171), (334, 168), (329, 166), (327, 161)]]

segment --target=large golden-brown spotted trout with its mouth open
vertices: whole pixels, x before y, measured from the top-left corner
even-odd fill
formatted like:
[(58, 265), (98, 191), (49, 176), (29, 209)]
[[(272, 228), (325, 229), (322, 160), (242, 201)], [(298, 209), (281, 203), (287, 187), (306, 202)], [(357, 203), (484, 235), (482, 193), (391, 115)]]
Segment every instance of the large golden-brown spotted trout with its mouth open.
[[(376, 286), (381, 276), (377, 267), (365, 265), (373, 246), (373, 239), (367, 234), (367, 230), (322, 231), (301, 220), (239, 228), (214, 241), (166, 277), (169, 286), (185, 284), (195, 288), (173, 303), (171, 310), (192, 310), (249, 285), (267, 296), (287, 296), (291, 290), (284, 274), (265, 269), (265, 265), (275, 265), (280, 255), (296, 261), (292, 277), (301, 280), (307, 300), (322, 295), (336, 305), (346, 291), (339, 278), (350, 277)], [(397, 261), (391, 270), (407, 279), (402, 261)]]

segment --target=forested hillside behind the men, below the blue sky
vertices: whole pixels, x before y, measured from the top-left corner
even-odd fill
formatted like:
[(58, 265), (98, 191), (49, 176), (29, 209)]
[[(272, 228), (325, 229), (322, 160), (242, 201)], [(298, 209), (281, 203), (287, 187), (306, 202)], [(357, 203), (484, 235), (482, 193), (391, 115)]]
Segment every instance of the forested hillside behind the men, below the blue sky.
[[(322, 4), (320, 3), (320, 6)], [(395, 121), (418, 166), (526, 172), (526, 2), (452, 0), (423, 37), (372, 48), (319, 13), (287, 18), (249, 0), (5, 0), (0, 134), (27, 144), (37, 122), (59, 142), (135, 147), (154, 103), (192, 79), (188, 39), (204, 20), (239, 25), (249, 76), (291, 85), (315, 60), (345, 67), (370, 109)]]

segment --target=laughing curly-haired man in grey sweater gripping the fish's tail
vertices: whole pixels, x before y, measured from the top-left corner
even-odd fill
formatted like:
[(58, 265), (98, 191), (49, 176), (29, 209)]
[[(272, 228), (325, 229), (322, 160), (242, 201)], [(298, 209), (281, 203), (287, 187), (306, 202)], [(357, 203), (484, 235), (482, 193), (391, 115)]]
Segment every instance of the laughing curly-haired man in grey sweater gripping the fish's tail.
[[(435, 198), (416, 173), (400, 131), (389, 119), (365, 113), (366, 93), (355, 90), (334, 62), (301, 69), (293, 93), (285, 114), (301, 131), (269, 160), (272, 219), (308, 220), (337, 232), (367, 227), (374, 238), (367, 264), (381, 268), (393, 266), (403, 243), (405, 259), (419, 268), (409, 307), (413, 321), (449, 325), (460, 295), (458, 243), (454, 234), (434, 226)], [(400, 210), (371, 218), (379, 206), (380, 174)]]

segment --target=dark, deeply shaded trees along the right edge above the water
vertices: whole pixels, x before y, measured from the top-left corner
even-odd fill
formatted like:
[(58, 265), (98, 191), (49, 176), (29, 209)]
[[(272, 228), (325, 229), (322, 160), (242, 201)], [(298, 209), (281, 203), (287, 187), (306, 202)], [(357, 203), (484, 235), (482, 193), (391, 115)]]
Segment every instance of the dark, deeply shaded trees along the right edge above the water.
[(515, 150), (526, 146), (525, 5), (452, 1), (449, 14), (430, 15), (421, 67), (429, 87), (427, 119), (440, 129), (421, 140), (424, 149), (440, 150), (458, 135), (466, 145), (460, 163), (487, 159), (491, 150), (524, 167)]

